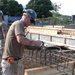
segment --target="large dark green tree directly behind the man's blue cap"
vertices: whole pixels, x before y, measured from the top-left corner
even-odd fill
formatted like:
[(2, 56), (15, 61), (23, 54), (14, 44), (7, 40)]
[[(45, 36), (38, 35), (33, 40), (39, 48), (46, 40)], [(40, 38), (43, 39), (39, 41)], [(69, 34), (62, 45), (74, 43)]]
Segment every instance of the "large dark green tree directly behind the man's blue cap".
[(26, 9), (35, 10), (38, 18), (42, 18), (42, 16), (46, 18), (52, 16), (50, 10), (53, 10), (53, 6), (50, 0), (30, 0)]

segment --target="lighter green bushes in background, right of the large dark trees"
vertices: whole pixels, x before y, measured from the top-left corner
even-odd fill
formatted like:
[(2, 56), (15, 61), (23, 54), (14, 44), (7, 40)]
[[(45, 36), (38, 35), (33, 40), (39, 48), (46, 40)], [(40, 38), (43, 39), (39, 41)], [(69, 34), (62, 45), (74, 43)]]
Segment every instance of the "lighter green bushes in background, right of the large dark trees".
[(52, 24), (52, 18), (54, 18), (54, 25), (59, 24), (71, 24), (72, 23), (72, 17), (67, 15), (61, 15), (59, 13), (54, 14), (53, 17), (48, 17), (48, 20), (50, 24)]

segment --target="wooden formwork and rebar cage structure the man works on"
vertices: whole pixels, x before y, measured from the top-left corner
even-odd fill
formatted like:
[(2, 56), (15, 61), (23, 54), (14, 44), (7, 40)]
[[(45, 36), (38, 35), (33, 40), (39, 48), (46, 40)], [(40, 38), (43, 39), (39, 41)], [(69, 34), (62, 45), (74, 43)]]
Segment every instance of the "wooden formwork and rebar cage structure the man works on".
[(25, 49), (24, 75), (75, 75), (75, 29), (30, 26), (26, 35), (44, 45)]

